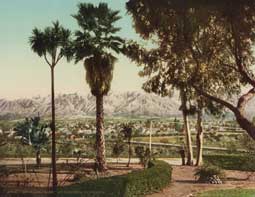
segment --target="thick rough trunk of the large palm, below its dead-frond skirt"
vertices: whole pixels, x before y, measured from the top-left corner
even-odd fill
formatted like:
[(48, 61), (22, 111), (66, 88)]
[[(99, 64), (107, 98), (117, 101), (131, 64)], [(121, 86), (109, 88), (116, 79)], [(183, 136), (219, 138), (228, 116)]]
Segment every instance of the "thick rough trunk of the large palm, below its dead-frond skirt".
[(107, 170), (105, 160), (105, 140), (104, 140), (104, 108), (103, 95), (96, 96), (96, 162), (100, 172)]

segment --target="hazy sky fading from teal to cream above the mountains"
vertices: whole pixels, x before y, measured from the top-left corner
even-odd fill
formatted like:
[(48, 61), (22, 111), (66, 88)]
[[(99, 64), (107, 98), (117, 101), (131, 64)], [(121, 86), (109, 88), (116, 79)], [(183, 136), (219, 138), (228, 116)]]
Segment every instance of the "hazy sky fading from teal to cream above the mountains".
[[(28, 38), (34, 27), (44, 28), (52, 21), (77, 29), (70, 16), (77, 12), (79, 2), (98, 4), (100, 0), (8, 0), (0, 6), (0, 98), (32, 97), (50, 93), (50, 70), (43, 58), (33, 53)], [(132, 20), (126, 14), (126, 0), (105, 0), (112, 9), (121, 11), (117, 26), (124, 38), (138, 39)], [(139, 68), (127, 58), (119, 56), (112, 82), (113, 91), (141, 90), (144, 79)], [(82, 63), (74, 65), (62, 60), (56, 67), (57, 93), (88, 93)]]

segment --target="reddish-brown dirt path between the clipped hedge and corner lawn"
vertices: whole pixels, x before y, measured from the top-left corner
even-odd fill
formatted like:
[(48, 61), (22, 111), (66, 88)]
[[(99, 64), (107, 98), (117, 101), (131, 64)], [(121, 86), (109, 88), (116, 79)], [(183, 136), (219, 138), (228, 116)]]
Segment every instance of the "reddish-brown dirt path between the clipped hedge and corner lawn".
[(193, 197), (198, 192), (227, 188), (254, 188), (255, 174), (247, 180), (248, 173), (241, 171), (225, 171), (227, 181), (221, 185), (201, 184), (195, 181), (195, 167), (173, 166), (172, 183), (159, 193), (147, 197)]

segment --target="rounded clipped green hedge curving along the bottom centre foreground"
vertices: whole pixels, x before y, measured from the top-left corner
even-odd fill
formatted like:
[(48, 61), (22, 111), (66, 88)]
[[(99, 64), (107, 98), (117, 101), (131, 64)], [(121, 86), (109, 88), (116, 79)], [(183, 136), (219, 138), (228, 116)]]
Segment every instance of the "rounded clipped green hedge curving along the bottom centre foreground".
[(100, 196), (134, 197), (160, 191), (166, 187), (172, 176), (171, 166), (163, 161), (155, 161), (150, 168), (133, 171), (126, 175), (85, 181), (62, 188), (58, 197)]

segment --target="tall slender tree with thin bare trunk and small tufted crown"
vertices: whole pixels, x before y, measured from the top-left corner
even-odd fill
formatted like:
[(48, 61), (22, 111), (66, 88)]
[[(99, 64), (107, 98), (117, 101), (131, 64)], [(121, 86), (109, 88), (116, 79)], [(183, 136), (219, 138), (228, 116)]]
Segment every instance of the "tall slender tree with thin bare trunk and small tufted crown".
[(70, 45), (71, 32), (62, 27), (59, 22), (53, 22), (52, 27), (44, 30), (34, 28), (29, 43), (33, 52), (43, 57), (51, 71), (51, 130), (52, 130), (52, 188), (57, 190), (56, 169), (56, 139), (55, 139), (55, 91), (54, 68), (57, 63), (66, 56), (68, 58), (68, 46)]

